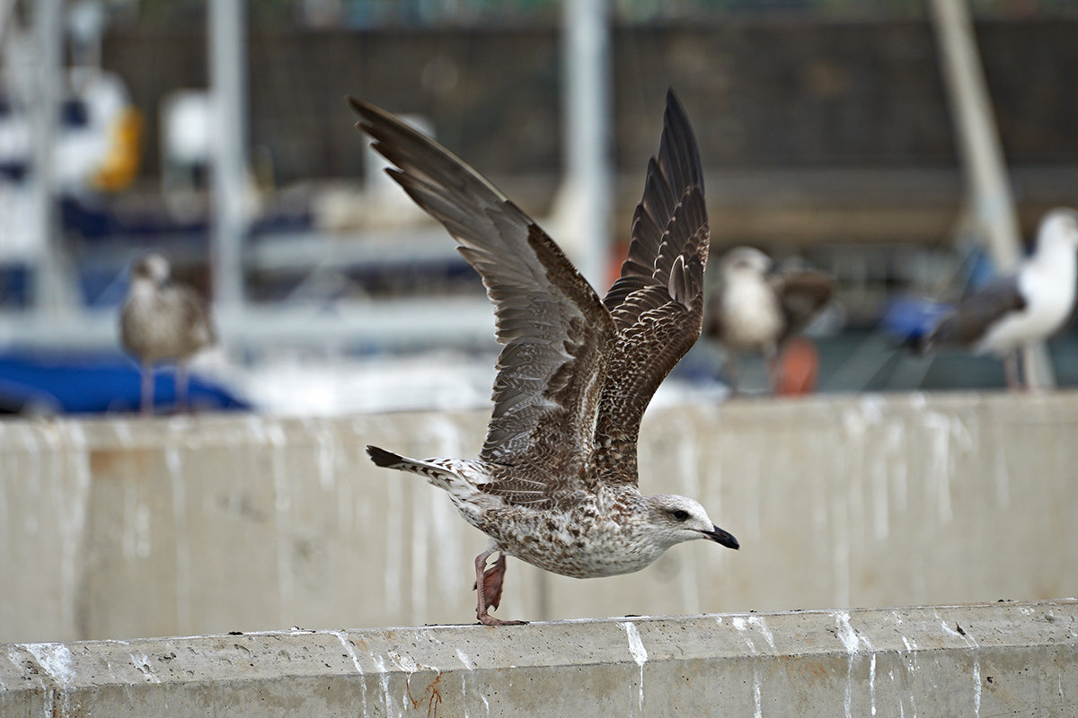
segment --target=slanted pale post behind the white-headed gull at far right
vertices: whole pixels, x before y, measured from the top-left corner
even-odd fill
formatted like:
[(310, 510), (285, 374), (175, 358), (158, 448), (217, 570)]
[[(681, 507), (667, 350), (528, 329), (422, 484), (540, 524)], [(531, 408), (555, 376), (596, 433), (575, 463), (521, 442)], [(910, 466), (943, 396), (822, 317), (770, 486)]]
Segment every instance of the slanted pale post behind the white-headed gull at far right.
[[(930, 0), (929, 8), (968, 183), (969, 207), (996, 266), (1007, 271), (1021, 256), (1019, 224), (969, 8), (966, 0)], [(1029, 348), (1023, 358), (1032, 386), (1054, 385), (1044, 344)]]

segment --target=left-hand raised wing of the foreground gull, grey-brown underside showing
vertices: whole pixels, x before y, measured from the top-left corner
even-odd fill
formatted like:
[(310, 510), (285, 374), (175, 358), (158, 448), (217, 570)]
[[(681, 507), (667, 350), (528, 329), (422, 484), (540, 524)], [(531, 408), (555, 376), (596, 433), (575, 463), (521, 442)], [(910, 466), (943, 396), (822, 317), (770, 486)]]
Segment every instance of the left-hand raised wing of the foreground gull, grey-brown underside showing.
[(388, 112), (347, 101), (372, 146), (397, 166), (389, 175), (457, 239), (495, 305), (505, 347), (480, 459), (542, 471), (484, 491), (528, 504), (579, 488), (614, 337), (609, 312), (554, 241), (494, 185)]

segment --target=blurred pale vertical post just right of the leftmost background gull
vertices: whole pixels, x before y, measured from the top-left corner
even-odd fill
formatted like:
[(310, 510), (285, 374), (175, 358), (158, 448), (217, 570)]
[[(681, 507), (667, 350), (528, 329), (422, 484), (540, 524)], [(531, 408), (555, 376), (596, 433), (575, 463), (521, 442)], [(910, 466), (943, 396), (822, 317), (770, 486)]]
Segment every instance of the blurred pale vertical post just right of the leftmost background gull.
[(247, 43), (244, 0), (210, 0), (209, 59), (213, 155), (210, 261), (213, 302), (234, 314), (244, 300), (243, 244), (247, 229), (244, 173), (247, 167)]

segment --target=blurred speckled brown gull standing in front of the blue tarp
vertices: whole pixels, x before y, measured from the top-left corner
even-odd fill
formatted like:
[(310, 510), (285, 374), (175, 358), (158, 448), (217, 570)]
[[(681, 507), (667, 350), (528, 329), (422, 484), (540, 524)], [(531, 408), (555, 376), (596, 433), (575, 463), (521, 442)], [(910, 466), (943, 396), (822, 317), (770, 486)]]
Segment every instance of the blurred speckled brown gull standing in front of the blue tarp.
[(127, 298), (120, 312), (120, 342), (139, 361), (142, 413), (153, 411), (153, 365), (176, 362), (176, 404), (185, 407), (185, 363), (216, 341), (202, 297), (169, 281), (168, 259), (156, 252), (132, 266)]

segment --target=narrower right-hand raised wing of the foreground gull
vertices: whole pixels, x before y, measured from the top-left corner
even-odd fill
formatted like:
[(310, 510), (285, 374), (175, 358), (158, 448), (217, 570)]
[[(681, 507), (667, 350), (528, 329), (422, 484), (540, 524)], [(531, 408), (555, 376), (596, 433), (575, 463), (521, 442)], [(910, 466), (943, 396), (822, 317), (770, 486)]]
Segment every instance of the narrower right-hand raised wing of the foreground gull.
[(636, 439), (651, 396), (700, 338), (710, 233), (700, 150), (685, 110), (666, 95), (658, 158), (648, 163), (628, 257), (603, 299), (618, 329), (599, 400), (595, 465), (636, 482)]

